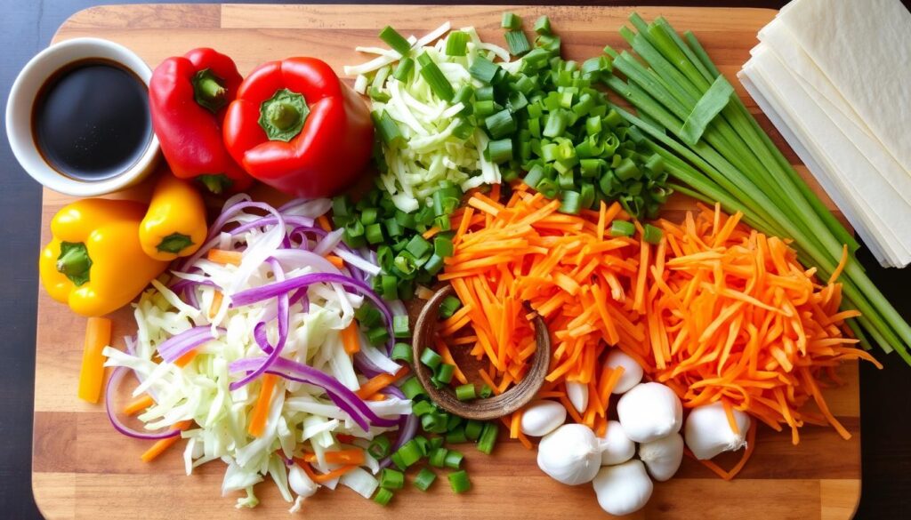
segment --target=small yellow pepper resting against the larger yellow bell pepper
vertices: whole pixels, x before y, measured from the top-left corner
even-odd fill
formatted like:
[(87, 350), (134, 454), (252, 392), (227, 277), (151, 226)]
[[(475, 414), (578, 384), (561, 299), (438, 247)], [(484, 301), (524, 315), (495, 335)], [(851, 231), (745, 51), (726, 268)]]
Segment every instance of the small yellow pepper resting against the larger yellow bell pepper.
[(206, 206), (189, 182), (165, 172), (139, 225), (142, 250), (156, 260), (186, 257), (206, 240)]

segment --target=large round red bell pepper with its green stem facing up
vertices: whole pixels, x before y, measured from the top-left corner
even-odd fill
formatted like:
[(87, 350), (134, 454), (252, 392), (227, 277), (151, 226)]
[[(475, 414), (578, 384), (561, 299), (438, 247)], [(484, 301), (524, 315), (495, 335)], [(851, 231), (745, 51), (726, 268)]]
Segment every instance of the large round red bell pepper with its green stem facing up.
[(331, 197), (363, 173), (374, 125), (332, 67), (292, 57), (247, 76), (228, 107), (224, 140), (253, 178), (295, 197)]

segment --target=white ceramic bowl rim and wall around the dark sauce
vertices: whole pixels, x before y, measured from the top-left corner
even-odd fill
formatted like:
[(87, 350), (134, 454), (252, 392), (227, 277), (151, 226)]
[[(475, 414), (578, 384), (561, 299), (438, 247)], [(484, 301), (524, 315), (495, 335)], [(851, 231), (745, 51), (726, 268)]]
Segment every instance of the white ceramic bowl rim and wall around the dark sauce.
[(94, 197), (128, 188), (151, 173), (159, 157), (159, 139), (153, 135), (136, 164), (115, 177), (97, 181), (67, 177), (41, 157), (32, 137), (32, 109), (38, 89), (63, 66), (87, 58), (114, 61), (133, 71), (147, 86), (152, 76), (148, 65), (125, 46), (101, 38), (75, 38), (49, 46), (33, 57), (15, 78), (6, 103), (6, 134), (19, 164), (47, 188), (74, 197)]

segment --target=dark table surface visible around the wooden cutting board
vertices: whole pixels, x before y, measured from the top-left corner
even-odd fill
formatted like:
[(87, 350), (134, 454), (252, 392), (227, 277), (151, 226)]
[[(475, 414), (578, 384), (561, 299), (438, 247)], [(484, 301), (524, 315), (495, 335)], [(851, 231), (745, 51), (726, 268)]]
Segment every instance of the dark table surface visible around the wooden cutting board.
[[(250, 0), (248, 0), (250, 1)], [(855, 0), (860, 1), (860, 0)], [(904, 0), (908, 5), (911, 0)], [(0, 99), (5, 111), (15, 75), (50, 42), (69, 15), (91, 0), (2, 0), (0, 15)], [(105, 2), (107, 3), (107, 2)], [(121, 3), (134, 3), (124, 1)], [(333, 4), (332, 0), (320, 3)], [(342, 2), (353, 3), (353, 2)], [(368, 2), (369, 3), (369, 2)], [(389, 2), (395, 3), (395, 2)], [(425, 4), (404, 0), (403, 4)], [(445, 4), (478, 4), (443, 2)], [(508, 3), (508, 2), (501, 2)], [(627, 2), (520, 2), (524, 4), (626, 5)], [(632, 2), (633, 5), (714, 5), (780, 8), (783, 1)], [(911, 86), (908, 87), (911, 92)], [(908, 103), (904, 100), (890, 102)], [(19, 168), (0, 138), (0, 518), (40, 518), (32, 499), (32, 401), (35, 383), (36, 258), (41, 223), (41, 189)], [(909, 223), (911, 225), (911, 223)], [(911, 319), (911, 269), (883, 270), (868, 253), (860, 255), (871, 278), (898, 310)], [(861, 365), (863, 490), (856, 518), (911, 517), (911, 368), (896, 355), (877, 356), (877, 371)], [(760, 515), (757, 512), (757, 515)], [(773, 520), (773, 519), (769, 519)]]

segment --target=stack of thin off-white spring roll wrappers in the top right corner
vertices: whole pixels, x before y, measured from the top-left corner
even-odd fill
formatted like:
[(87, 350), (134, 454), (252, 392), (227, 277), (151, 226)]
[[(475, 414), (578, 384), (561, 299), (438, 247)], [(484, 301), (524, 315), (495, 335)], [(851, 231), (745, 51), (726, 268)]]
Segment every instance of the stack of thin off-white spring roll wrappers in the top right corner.
[(911, 262), (911, 14), (900, 0), (793, 0), (743, 86), (884, 266)]

